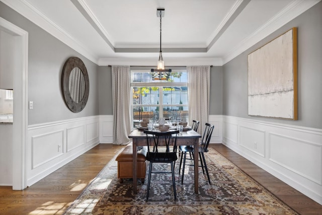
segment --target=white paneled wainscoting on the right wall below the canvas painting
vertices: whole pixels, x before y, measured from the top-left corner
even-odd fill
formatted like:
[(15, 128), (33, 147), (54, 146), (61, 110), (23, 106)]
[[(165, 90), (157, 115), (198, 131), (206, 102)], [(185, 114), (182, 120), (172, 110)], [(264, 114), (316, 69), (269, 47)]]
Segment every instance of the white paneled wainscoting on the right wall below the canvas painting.
[(322, 204), (321, 129), (222, 116), (222, 131), (225, 146)]

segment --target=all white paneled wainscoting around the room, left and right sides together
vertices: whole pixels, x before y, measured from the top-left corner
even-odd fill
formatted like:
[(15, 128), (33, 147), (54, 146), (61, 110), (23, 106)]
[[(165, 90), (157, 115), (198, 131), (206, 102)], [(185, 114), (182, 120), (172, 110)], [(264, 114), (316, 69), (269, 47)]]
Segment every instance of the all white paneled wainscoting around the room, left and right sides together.
[[(222, 143), (322, 204), (322, 129), (210, 115), (211, 144)], [(30, 125), (27, 185), (89, 149), (113, 142), (113, 116), (100, 115)]]

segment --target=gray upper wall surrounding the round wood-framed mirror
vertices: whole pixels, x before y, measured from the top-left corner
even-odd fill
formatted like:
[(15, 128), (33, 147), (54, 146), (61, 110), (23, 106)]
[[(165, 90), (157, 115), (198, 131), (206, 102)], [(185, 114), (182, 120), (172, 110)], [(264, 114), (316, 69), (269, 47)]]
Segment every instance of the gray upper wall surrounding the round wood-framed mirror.
[[(34, 102), (34, 109), (28, 112), (28, 124), (98, 115), (99, 66), (2, 2), (0, 16), (29, 33), (28, 100)], [(62, 67), (70, 56), (79, 57), (84, 61), (90, 80), (88, 103), (79, 113), (73, 113), (67, 108), (61, 93)]]

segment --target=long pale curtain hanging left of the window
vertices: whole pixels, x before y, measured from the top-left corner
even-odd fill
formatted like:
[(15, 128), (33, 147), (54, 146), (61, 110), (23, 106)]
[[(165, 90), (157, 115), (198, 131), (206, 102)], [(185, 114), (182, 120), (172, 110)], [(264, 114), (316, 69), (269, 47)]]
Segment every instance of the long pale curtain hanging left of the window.
[(130, 66), (112, 65), (113, 144), (127, 145), (131, 132)]

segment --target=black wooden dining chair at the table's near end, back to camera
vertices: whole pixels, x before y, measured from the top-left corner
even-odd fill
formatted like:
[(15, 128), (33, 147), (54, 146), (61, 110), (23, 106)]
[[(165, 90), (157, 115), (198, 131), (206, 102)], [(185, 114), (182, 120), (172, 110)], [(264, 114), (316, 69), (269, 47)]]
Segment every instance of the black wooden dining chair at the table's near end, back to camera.
[[(163, 131), (163, 132), (144, 130), (143, 132), (146, 134), (146, 144), (148, 149), (146, 154), (146, 160), (150, 162), (146, 200), (148, 200), (148, 197), (149, 197), (151, 173), (170, 173), (170, 172), (152, 172), (153, 163), (171, 164), (173, 192), (174, 192), (175, 199), (177, 199), (174, 165), (175, 165), (175, 162), (178, 160), (177, 134), (179, 133), (179, 130)], [(160, 146), (165, 146), (165, 148), (163, 147), (163, 150), (160, 150)], [(172, 150), (170, 149), (170, 146), (173, 147)], [(150, 147), (153, 147), (154, 149), (153, 152), (150, 152)]]

